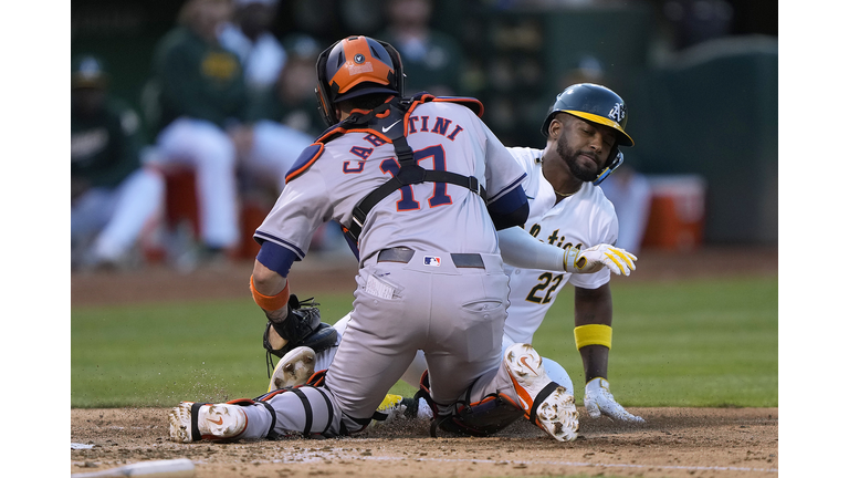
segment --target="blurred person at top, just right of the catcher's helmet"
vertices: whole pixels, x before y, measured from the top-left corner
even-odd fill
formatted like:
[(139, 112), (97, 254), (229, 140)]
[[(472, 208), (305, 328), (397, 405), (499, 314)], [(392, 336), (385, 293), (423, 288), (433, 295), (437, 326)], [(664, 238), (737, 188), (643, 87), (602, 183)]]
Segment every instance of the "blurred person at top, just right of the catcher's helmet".
[(463, 50), (452, 37), (433, 30), (432, 0), (389, 0), (389, 24), (378, 38), (403, 56), (406, 89), (410, 95), (427, 91), (436, 96), (462, 94)]

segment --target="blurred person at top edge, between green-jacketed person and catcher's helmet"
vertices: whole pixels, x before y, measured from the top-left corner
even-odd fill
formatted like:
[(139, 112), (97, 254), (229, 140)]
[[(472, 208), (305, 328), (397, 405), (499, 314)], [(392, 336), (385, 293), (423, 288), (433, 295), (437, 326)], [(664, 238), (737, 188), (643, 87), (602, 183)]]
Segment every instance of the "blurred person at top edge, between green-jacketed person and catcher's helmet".
[(221, 44), (239, 55), (251, 91), (274, 85), (286, 64), (286, 52), (272, 32), (280, 0), (234, 0), (231, 22), (219, 34)]

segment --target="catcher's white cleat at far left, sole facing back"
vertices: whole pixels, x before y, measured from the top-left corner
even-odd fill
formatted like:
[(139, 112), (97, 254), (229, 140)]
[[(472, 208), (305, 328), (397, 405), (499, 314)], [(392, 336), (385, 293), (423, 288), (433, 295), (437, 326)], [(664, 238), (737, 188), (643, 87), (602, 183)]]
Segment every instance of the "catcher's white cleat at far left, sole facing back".
[(248, 416), (239, 405), (181, 402), (168, 413), (171, 441), (223, 440), (239, 436)]

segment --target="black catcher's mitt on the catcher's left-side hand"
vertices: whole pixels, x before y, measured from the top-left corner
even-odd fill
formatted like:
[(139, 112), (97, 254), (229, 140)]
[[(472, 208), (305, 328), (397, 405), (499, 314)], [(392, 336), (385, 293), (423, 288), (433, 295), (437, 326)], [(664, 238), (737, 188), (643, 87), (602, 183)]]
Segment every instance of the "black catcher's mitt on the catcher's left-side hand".
[[(292, 349), (308, 346), (315, 353), (325, 351), (336, 344), (336, 329), (323, 323), (318, 313), (318, 304), (314, 298), (298, 301), (295, 294), (289, 297), (286, 304), (289, 313), (282, 322), (269, 321), (265, 324), (265, 333), (262, 335), (262, 346), (266, 351), (266, 364), (271, 364), (271, 355), (282, 358)], [(269, 342), (269, 331), (274, 331), (287, 342), (281, 349), (272, 349)]]

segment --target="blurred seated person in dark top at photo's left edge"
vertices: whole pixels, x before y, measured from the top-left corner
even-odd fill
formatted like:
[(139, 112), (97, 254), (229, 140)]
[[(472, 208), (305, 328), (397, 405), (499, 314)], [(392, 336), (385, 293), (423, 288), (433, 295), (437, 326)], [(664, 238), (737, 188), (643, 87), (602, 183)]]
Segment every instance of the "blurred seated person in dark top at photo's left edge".
[(146, 226), (161, 212), (165, 181), (142, 165), (138, 115), (109, 95), (103, 61), (71, 63), (71, 268), (133, 266)]

